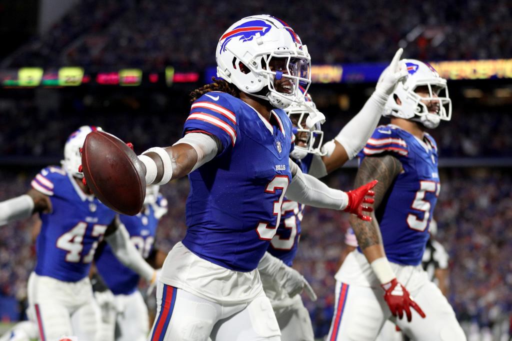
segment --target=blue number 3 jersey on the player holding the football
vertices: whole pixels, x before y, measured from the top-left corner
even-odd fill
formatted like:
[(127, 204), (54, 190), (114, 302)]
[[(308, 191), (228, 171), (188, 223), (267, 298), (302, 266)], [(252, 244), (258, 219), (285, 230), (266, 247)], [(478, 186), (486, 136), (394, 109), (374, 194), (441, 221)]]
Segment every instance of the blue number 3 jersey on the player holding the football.
[(222, 151), (188, 175), (183, 244), (228, 269), (254, 270), (281, 220), (292, 124), (281, 109), (272, 111), (270, 122), (223, 92), (201, 96), (185, 122), (184, 134), (215, 135)]

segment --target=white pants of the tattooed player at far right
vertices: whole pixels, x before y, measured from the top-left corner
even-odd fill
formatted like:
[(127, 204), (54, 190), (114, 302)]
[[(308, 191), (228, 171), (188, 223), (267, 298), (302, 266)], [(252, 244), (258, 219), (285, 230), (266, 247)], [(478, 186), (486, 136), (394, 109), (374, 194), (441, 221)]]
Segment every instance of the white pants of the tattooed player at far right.
[(421, 266), (391, 263), (397, 280), (426, 315), (421, 318), (411, 308), (412, 322), (408, 322), (405, 314), (402, 319), (391, 315), (384, 291), (375, 284), (377, 279), (363, 258), (357, 250), (351, 252), (336, 274), (336, 304), (328, 341), (374, 341), (388, 319), (416, 341), (466, 340), (450, 303)]

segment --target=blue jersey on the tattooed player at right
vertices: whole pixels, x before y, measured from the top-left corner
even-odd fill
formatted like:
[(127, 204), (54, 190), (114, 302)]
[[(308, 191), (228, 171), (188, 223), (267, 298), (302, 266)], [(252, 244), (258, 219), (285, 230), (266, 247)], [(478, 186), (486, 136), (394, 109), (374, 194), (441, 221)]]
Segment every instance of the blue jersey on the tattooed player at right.
[(396, 125), (378, 126), (364, 149), (367, 156), (393, 154), (403, 172), (397, 176), (375, 211), (382, 242), (391, 262), (405, 265), (421, 263), (429, 224), (439, 195), (437, 145), (425, 133), (423, 141)]

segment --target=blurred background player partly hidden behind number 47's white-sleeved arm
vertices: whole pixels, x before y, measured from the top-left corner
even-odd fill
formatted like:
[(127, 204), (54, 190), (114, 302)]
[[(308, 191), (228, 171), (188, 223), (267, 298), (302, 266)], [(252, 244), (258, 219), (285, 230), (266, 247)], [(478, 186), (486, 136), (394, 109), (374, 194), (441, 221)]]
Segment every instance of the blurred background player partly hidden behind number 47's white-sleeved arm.
[[(142, 257), (158, 258), (153, 247), (158, 222), (167, 213), (167, 200), (158, 193), (159, 186), (147, 186), (142, 211), (136, 216), (120, 216), (121, 223), (130, 233), (130, 240)], [(102, 326), (100, 339), (104, 341), (144, 341), (149, 333), (150, 323), (144, 299), (137, 289), (140, 276), (123, 266), (115, 257), (112, 248), (101, 243), (96, 252), (96, 270), (114, 295), (98, 292), (100, 301), (105, 297), (104, 308), (100, 305)], [(162, 260), (163, 263), (163, 260)], [(162, 263), (155, 264), (160, 268)], [(117, 326), (116, 326), (117, 324)]]

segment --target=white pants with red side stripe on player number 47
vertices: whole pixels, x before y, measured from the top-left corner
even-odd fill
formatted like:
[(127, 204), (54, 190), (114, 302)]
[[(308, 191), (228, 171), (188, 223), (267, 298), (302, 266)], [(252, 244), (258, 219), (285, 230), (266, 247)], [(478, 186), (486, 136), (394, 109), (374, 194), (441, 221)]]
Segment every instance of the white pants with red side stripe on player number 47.
[(41, 341), (55, 341), (62, 335), (97, 340), (100, 313), (89, 278), (63, 282), (32, 272), (28, 301)]

